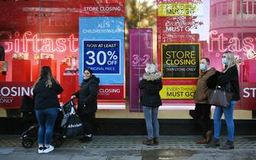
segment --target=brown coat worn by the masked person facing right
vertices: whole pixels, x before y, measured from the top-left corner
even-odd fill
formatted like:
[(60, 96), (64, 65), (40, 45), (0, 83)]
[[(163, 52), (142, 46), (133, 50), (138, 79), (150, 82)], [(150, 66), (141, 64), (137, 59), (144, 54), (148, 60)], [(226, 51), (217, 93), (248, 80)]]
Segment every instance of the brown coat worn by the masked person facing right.
[(208, 104), (208, 87), (207, 80), (215, 74), (215, 68), (211, 68), (199, 75), (196, 84), (195, 102), (196, 104)]

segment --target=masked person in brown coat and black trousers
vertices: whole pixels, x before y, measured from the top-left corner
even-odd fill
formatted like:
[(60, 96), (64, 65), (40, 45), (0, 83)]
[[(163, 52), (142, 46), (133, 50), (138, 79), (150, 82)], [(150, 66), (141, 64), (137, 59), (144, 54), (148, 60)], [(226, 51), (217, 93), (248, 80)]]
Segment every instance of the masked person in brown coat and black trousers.
[(195, 114), (194, 119), (203, 130), (203, 139), (199, 139), (197, 143), (206, 144), (211, 141), (212, 131), (211, 128), (211, 104), (208, 104), (208, 87), (207, 80), (215, 74), (215, 68), (209, 66), (209, 59), (202, 58), (200, 61), (201, 74), (196, 83), (195, 93)]

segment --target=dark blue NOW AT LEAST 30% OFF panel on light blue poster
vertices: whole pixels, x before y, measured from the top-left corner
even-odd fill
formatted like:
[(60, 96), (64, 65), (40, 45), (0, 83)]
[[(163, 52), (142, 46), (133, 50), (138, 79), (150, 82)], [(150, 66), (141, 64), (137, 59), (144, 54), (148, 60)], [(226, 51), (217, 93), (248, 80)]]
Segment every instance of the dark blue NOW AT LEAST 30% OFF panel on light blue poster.
[(84, 69), (94, 74), (120, 74), (120, 40), (83, 40)]

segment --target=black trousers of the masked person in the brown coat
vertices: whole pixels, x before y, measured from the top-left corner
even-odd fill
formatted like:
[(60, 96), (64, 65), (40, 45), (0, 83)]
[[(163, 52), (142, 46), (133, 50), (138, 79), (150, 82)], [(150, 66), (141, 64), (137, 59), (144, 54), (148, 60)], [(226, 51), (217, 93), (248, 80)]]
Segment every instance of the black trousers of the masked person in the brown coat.
[(207, 131), (211, 130), (211, 105), (210, 104), (196, 104), (195, 107), (196, 123), (203, 130), (203, 136)]

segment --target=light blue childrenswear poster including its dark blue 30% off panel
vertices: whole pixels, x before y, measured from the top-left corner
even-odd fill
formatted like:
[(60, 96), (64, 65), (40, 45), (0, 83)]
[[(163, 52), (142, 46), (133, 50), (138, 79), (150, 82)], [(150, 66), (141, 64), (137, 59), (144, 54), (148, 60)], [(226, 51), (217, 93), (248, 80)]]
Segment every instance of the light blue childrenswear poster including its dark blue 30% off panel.
[(123, 17), (79, 18), (79, 82), (92, 69), (100, 85), (124, 85), (125, 20)]

